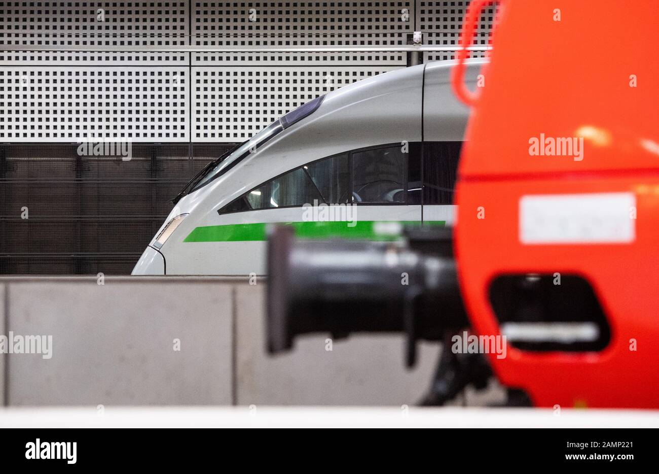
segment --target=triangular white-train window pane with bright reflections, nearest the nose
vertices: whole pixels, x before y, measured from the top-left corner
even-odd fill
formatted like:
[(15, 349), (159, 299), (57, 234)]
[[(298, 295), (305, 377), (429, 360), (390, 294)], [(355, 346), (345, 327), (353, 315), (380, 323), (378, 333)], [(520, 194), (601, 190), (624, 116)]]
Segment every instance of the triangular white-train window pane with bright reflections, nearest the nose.
[(322, 196), (304, 168), (297, 168), (275, 178), (246, 195), (252, 209), (295, 207), (322, 202)]

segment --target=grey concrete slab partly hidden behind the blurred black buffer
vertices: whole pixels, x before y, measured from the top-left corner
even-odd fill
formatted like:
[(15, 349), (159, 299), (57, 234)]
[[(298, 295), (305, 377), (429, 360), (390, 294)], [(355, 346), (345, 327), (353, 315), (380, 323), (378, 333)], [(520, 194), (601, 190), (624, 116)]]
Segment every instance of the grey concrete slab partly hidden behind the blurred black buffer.
[(264, 352), (263, 285), (237, 287), (236, 308), (241, 405), (414, 405), (430, 385), (438, 345), (422, 345), (415, 370), (404, 368), (396, 335), (308, 335), (272, 357)]

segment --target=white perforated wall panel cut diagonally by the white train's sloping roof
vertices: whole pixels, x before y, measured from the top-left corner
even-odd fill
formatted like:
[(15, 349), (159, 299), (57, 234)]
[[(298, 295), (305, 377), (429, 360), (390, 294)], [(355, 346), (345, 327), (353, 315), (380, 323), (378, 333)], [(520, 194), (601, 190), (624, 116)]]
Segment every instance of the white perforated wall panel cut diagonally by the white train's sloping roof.
[(193, 67), (193, 141), (244, 141), (313, 98), (394, 69)]

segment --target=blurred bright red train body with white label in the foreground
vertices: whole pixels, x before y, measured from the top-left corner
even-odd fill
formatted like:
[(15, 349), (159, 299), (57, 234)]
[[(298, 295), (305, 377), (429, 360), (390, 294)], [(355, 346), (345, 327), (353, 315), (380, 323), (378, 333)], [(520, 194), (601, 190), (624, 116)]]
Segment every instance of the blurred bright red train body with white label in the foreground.
[[(457, 185), (455, 252), (469, 317), (478, 333), (500, 333), (488, 300), (497, 275), (581, 275), (610, 324), (606, 349), (509, 347), (506, 358), (490, 357), (498, 378), (537, 406), (659, 408), (659, 3), (500, 8)], [(540, 137), (583, 138), (581, 159), (531, 154)], [(632, 238), (598, 242), (594, 229), (591, 241), (523, 242), (523, 197), (600, 193), (633, 196)]]

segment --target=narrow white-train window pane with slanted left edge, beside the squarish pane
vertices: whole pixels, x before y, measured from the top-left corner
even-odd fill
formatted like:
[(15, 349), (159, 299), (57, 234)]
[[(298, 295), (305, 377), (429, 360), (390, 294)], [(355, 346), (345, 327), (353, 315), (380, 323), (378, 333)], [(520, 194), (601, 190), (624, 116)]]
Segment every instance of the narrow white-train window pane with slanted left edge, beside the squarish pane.
[(303, 166), (327, 204), (347, 203), (350, 195), (348, 154), (337, 154)]

